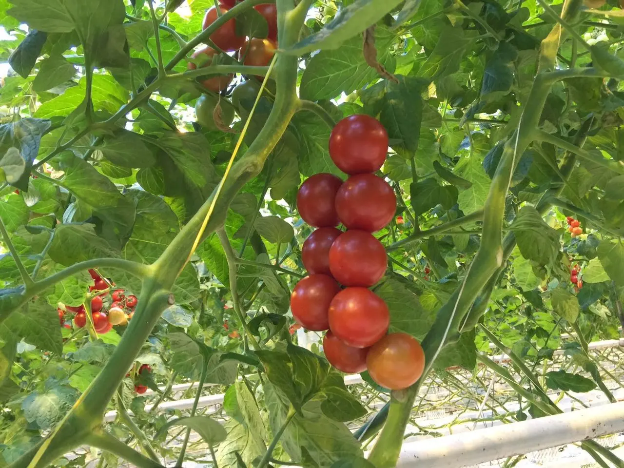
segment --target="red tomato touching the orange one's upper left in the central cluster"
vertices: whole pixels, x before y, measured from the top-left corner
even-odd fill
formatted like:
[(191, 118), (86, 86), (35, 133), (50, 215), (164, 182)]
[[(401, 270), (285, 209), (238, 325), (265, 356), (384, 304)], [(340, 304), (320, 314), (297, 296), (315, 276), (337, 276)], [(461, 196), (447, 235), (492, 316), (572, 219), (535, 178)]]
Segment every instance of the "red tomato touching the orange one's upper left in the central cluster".
[(331, 333), (355, 348), (373, 346), (386, 334), (389, 324), (388, 306), (366, 288), (346, 288), (329, 305)]

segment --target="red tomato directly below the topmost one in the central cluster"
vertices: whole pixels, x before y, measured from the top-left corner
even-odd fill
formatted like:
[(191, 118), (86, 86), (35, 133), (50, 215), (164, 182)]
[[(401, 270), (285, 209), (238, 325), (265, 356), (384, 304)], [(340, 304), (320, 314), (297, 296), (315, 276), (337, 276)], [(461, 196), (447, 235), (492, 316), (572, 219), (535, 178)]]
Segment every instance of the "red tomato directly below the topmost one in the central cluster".
[(383, 178), (373, 174), (352, 175), (336, 193), (336, 212), (349, 229), (379, 231), (392, 221), (396, 197)]

